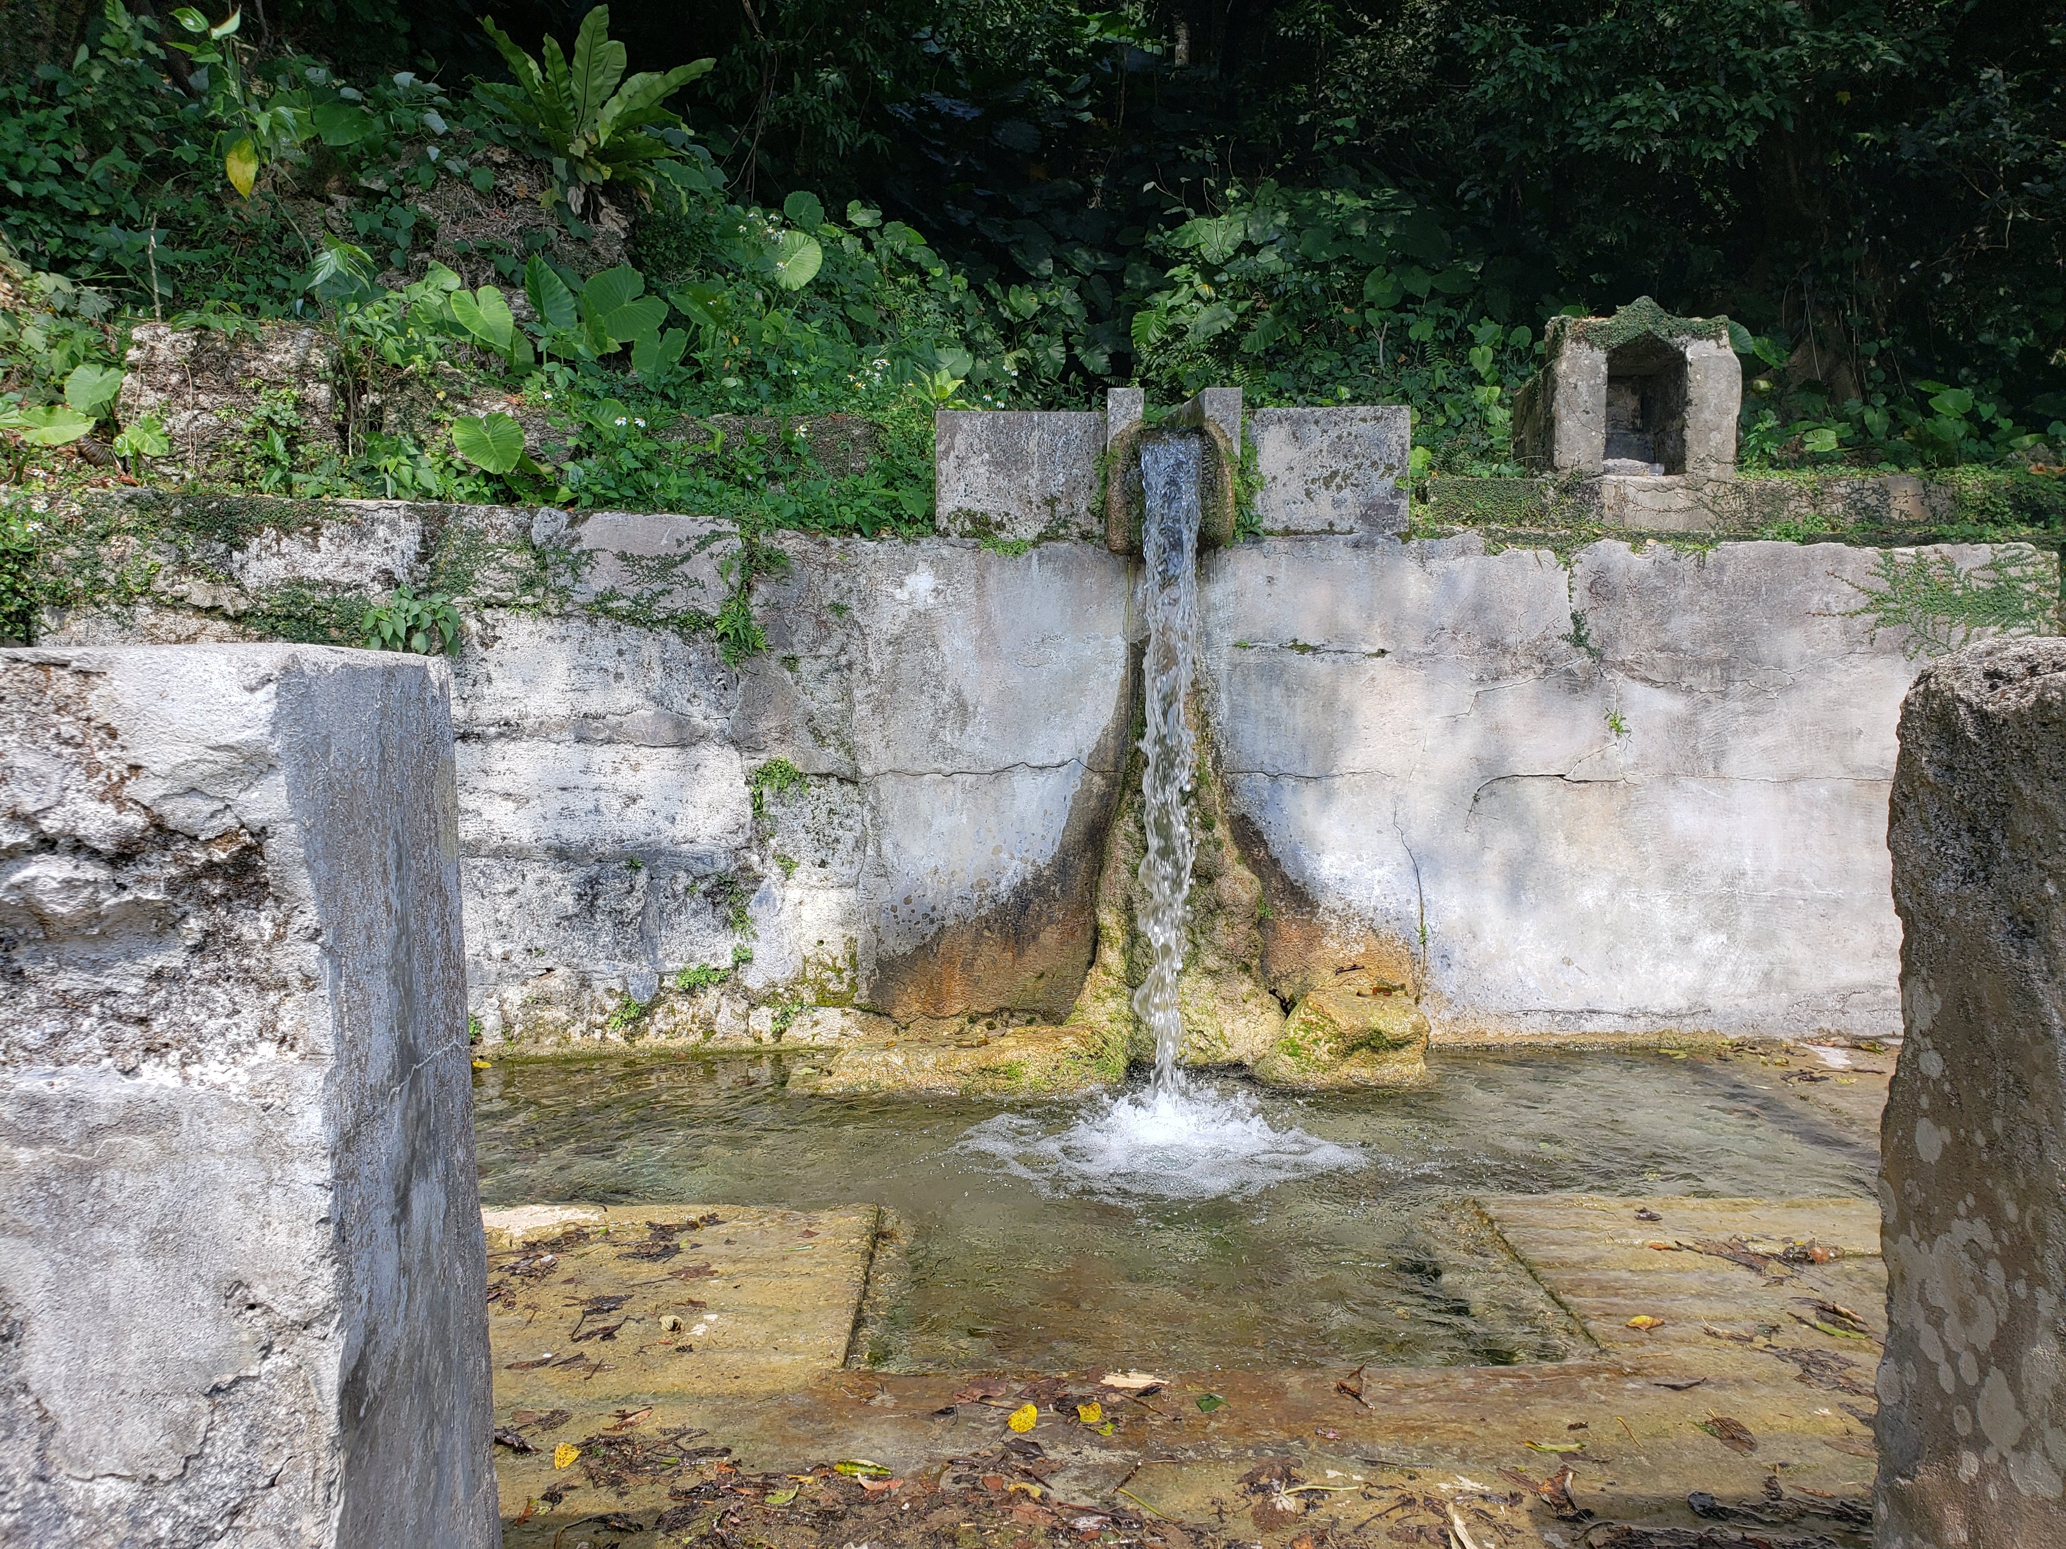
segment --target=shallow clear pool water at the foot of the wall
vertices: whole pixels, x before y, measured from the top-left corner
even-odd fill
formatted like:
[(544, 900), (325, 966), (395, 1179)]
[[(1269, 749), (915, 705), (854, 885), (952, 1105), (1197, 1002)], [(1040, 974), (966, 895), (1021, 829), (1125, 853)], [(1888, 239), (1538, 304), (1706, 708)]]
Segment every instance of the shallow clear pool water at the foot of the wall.
[[(481, 1192), (492, 1206), (878, 1202), (903, 1252), (866, 1355), (1043, 1371), (1560, 1359), (1562, 1316), (1473, 1194), (1872, 1196), (1870, 1134), (1731, 1064), (1438, 1053), (1430, 1068), (1421, 1090), (1322, 1099), (1219, 1082), (1227, 1107), (1349, 1165), (1271, 1181), (1260, 1146), (1248, 1173), (1186, 1198), (1153, 1190), (1155, 1165), (1056, 1161), (1112, 1099), (804, 1097), (777, 1057), (496, 1066), (475, 1093)], [(1151, 1121), (1153, 1095), (1130, 1097)]]

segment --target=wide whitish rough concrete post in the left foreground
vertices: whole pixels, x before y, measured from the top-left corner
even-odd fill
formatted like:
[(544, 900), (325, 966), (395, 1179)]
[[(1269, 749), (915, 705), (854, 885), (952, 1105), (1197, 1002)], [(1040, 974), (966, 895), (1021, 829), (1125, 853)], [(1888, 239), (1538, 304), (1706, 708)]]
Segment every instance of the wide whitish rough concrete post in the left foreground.
[(500, 1541), (442, 663), (0, 651), (0, 1543)]

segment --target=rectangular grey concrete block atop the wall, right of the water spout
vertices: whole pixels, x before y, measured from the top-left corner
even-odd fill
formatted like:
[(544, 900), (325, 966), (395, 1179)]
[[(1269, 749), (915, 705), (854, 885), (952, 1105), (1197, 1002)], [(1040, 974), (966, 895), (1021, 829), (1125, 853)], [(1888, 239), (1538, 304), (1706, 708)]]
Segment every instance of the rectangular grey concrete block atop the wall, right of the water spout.
[(1248, 415), (1264, 533), (1407, 531), (1403, 407), (1256, 409)]

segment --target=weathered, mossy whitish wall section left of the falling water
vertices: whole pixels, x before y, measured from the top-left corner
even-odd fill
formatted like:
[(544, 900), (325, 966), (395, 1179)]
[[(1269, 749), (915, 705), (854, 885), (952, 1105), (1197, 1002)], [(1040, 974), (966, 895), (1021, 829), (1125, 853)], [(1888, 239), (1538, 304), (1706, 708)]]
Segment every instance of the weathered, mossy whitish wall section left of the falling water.
[[(709, 525), (595, 518), (585, 587), (645, 572), (702, 605)], [(678, 531), (661, 533), (674, 523)], [(603, 547), (607, 545), (607, 547)], [(634, 1035), (752, 1041), (750, 993), (797, 985), (899, 1020), (1060, 1020), (1095, 940), (1099, 834), (1130, 710), (1126, 566), (1085, 545), (787, 539), (769, 655), (589, 615), (486, 613), (457, 663), (475, 1010), (492, 1037), (595, 1026), (692, 965)], [(645, 597), (645, 593), (640, 593)], [(787, 764), (800, 785), (760, 785)]]

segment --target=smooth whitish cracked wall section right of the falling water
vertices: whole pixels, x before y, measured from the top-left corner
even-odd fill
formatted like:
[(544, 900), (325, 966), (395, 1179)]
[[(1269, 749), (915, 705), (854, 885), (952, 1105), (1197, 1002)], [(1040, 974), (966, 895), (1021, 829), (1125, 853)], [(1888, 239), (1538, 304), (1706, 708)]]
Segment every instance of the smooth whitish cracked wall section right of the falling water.
[(1897, 1033), (1878, 834), (1915, 669), (1847, 615), (1872, 566), (1209, 556), (1200, 682), (1273, 913), (1390, 942), (1436, 1033)]

